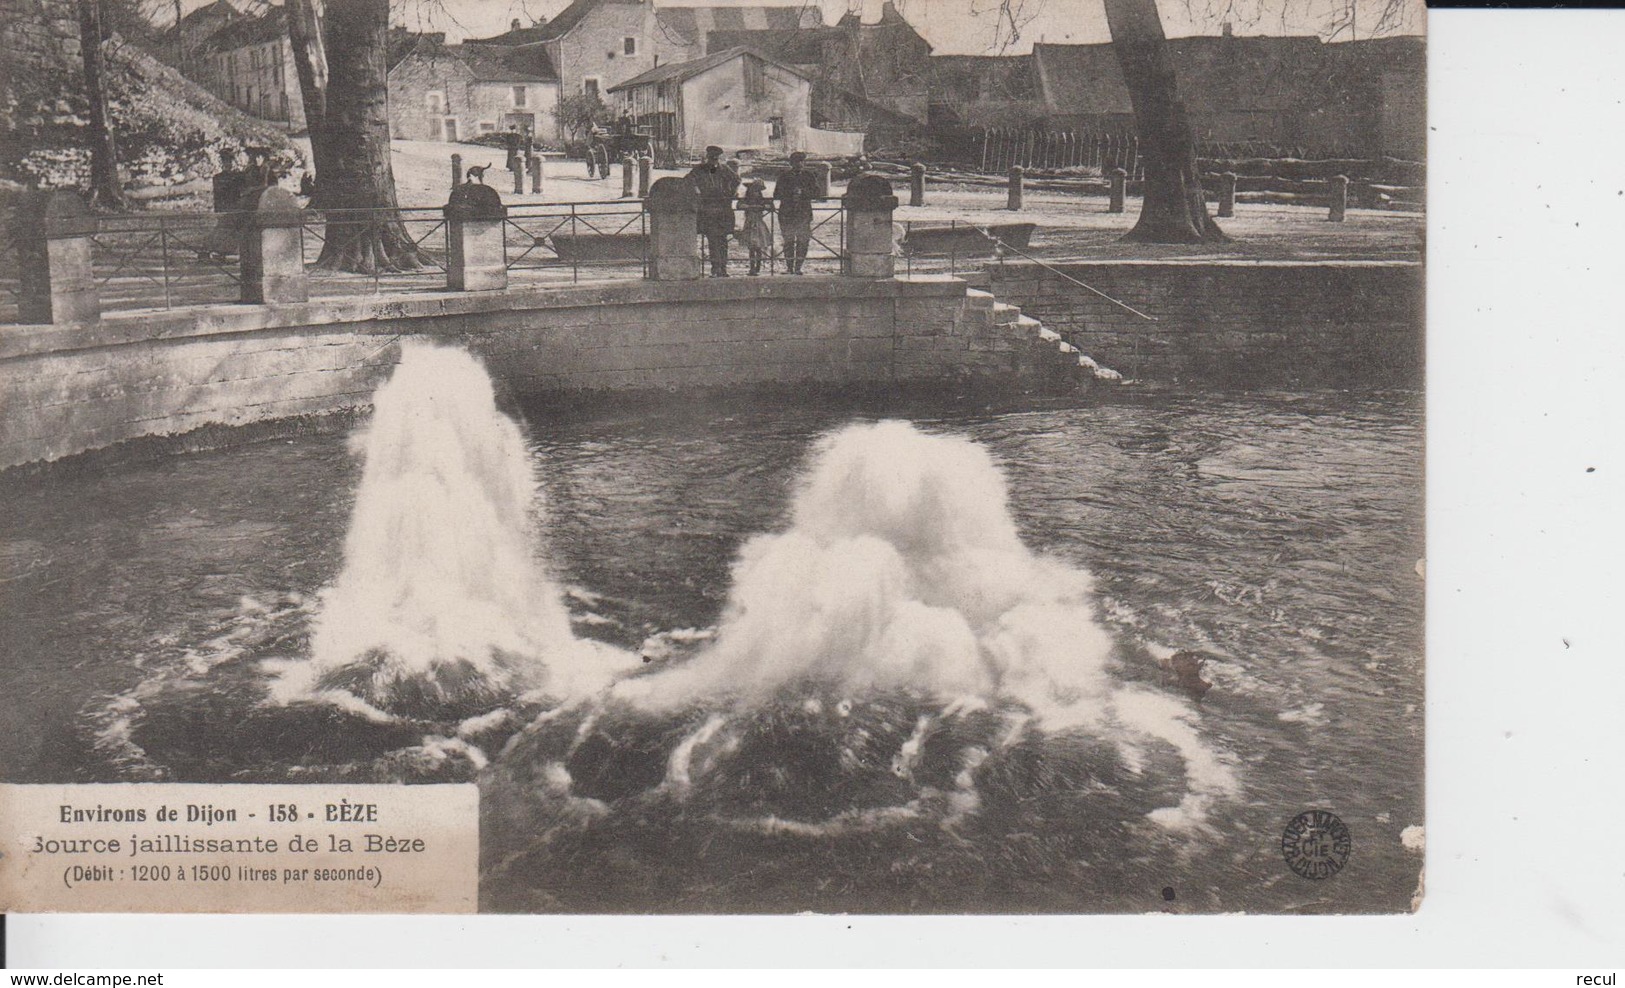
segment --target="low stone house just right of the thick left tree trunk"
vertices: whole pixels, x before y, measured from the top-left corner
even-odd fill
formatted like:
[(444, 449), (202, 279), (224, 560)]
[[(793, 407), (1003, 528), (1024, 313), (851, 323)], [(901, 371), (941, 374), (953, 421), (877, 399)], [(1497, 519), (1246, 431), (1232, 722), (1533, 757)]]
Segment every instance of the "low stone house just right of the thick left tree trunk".
[(392, 54), (388, 81), (398, 140), (458, 141), (499, 130), (559, 140), (559, 78), (543, 52), (419, 36)]

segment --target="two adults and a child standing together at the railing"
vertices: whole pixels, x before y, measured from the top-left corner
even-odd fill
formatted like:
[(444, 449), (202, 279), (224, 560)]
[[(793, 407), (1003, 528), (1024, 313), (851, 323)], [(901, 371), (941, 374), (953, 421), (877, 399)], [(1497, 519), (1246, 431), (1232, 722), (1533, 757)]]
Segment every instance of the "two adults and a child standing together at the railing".
[(812, 242), (812, 200), (819, 195), (819, 184), (812, 171), (806, 167), (806, 153), (796, 151), (790, 156), (790, 171), (774, 184), (774, 198), (765, 195), (767, 184), (751, 179), (739, 198), (744, 210), (744, 229), (734, 229), (734, 195), (739, 190), (739, 174), (722, 159), (722, 148), (712, 145), (705, 148), (705, 161), (694, 166), (687, 179), (700, 198), (699, 232), (705, 237), (705, 252), (710, 257), (712, 278), (728, 276), (728, 237), (738, 236), (751, 255), (751, 275), (762, 273), (765, 262), (774, 250), (774, 239), (767, 229), (767, 213), (778, 213), (778, 236), (785, 247), (785, 270), (801, 275), (806, 263), (808, 245)]

